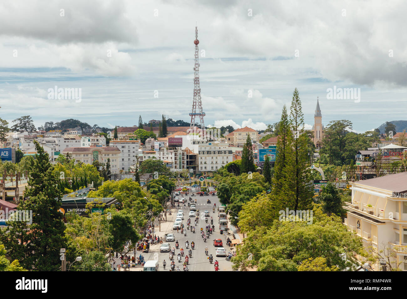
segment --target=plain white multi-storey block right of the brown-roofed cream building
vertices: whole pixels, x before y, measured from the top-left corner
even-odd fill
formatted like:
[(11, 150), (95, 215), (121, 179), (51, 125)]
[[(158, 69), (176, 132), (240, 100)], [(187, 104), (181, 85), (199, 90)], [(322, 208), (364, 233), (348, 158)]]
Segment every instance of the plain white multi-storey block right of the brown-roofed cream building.
[(132, 169), (131, 166), (137, 164), (140, 140), (111, 140), (109, 146), (117, 147), (121, 152), (118, 157), (119, 171), (129, 171)]

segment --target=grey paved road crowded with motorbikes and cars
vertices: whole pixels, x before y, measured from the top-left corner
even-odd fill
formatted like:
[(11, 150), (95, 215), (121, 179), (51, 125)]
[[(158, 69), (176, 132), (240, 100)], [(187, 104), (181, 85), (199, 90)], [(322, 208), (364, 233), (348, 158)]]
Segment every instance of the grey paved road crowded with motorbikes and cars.
[[(228, 238), (227, 235), (221, 235), (219, 233), (219, 217), (218, 217), (218, 212), (217, 212), (217, 208), (215, 209), (215, 212), (212, 212), (212, 207), (213, 204), (216, 203), (216, 206), (219, 206), (219, 199), (217, 198), (217, 196), (192, 196), (193, 199), (197, 199), (197, 209), (199, 209), (199, 223), (197, 223), (197, 227), (195, 227), (195, 234), (193, 234), (190, 230), (187, 231), (186, 236), (184, 236), (184, 234), (181, 234), (181, 231), (179, 231), (179, 233), (177, 233), (177, 231), (166, 231), (166, 232), (161, 232), (161, 235), (163, 236), (164, 234), (170, 232), (170, 233), (174, 233), (175, 235), (175, 240), (178, 240), (179, 242), (179, 249), (181, 247), (184, 248), (185, 252), (187, 253), (189, 249), (185, 249), (185, 241), (188, 240), (189, 244), (191, 244), (192, 241), (195, 242), (195, 249), (193, 249), (192, 252), (192, 258), (189, 259), (189, 264), (188, 264), (188, 268), (189, 271), (214, 271), (214, 265), (210, 264), (209, 260), (208, 260), (208, 256), (205, 255), (205, 247), (208, 247), (208, 254), (212, 253), (212, 256), (214, 258), (214, 262), (215, 260), (218, 260), (219, 262), (219, 271), (232, 271), (232, 263), (228, 262), (227, 260), (225, 260), (225, 257), (215, 257), (215, 250), (217, 247), (214, 247), (213, 245), (213, 241), (215, 239), (222, 239), (223, 241), (223, 247), (226, 249), (226, 253), (228, 251), (230, 251), (230, 247), (226, 246), (226, 239)], [(189, 198), (189, 196), (188, 196)], [(211, 203), (207, 204), (206, 201), (207, 199), (210, 199)], [(182, 209), (182, 207), (184, 206), (183, 204), (179, 204), (180, 207), (179, 209)], [(188, 220), (188, 214), (189, 214), (189, 208), (188, 205), (186, 205), (186, 209), (182, 209), (184, 210), (184, 226), (186, 227), (186, 221)], [(208, 217), (208, 223), (205, 222), (205, 217), (203, 216), (203, 212), (204, 210), (208, 210), (210, 212), (210, 216)], [(175, 215), (173, 214), (174, 219), (175, 219)], [(204, 242), (204, 239), (200, 236), (200, 228), (203, 227), (205, 229), (206, 225), (210, 224), (210, 217), (212, 216), (213, 218), (213, 224), (215, 226), (215, 231), (214, 233), (212, 233), (209, 238), (207, 239), (206, 242)], [(194, 220), (195, 218), (191, 218), (191, 222), (192, 224), (194, 224)], [(170, 226), (170, 229), (172, 228), (172, 225)], [(232, 236), (229, 236), (232, 239)], [(168, 242), (172, 247), (175, 247), (175, 242)], [(190, 248), (190, 246), (189, 246)], [(179, 266), (179, 268), (182, 271), (182, 264), (184, 263), (185, 260), (185, 256), (182, 258), (181, 262), (178, 262), (176, 259), (176, 255), (178, 254), (179, 249), (175, 249), (175, 266)], [(166, 266), (166, 270), (165, 271), (169, 271), (170, 268), (170, 264), (171, 261), (169, 260), (169, 253), (158, 253), (158, 260), (160, 261), (160, 271), (163, 271), (164, 269), (162, 268), (162, 261), (165, 259), (167, 262), (167, 266)], [(147, 257), (146, 255), (144, 255), (145, 258), (147, 259), (152, 259), (153, 258), (153, 254), (150, 254), (151, 257)], [(157, 257), (157, 255), (155, 255), (155, 257)]]

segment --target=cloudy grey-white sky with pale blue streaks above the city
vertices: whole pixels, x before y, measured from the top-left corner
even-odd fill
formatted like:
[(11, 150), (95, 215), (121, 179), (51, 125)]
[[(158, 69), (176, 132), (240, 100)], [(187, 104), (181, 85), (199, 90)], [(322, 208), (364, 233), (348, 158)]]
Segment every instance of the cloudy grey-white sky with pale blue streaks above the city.
[[(132, 126), (163, 113), (189, 122), (197, 23), (206, 125), (264, 129), (297, 87), (307, 127), (318, 96), (324, 125), (347, 119), (367, 131), (407, 119), (406, 10), (405, 1), (4, 0), (0, 117), (31, 115), (37, 127)], [(81, 101), (50, 95), (55, 86), (80, 89)]]

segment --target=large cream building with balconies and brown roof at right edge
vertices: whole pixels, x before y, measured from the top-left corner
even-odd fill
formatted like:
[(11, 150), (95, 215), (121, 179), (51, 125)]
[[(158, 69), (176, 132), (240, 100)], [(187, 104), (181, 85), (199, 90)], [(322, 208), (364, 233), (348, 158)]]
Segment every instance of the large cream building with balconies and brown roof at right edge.
[[(407, 271), (407, 172), (385, 175), (363, 181), (350, 182), (352, 201), (346, 202), (348, 210), (344, 225), (355, 231), (365, 247), (373, 246), (381, 251), (383, 258), (387, 250), (393, 267)], [(358, 256), (362, 264), (365, 260)], [(370, 262), (369, 262), (370, 263)], [(370, 264), (371, 270), (382, 271), (379, 261)], [(389, 270), (389, 268), (387, 268)]]

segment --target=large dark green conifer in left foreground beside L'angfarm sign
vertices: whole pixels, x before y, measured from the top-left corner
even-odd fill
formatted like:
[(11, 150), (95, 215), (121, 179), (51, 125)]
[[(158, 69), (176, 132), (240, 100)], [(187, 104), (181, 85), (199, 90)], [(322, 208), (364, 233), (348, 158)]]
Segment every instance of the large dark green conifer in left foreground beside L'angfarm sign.
[(59, 251), (67, 248), (63, 214), (59, 212), (62, 193), (55, 187), (58, 179), (53, 175), (48, 154), (37, 141), (34, 144), (37, 154), (31, 161), (26, 200), (17, 207), (32, 211), (32, 219), (9, 221), (9, 227), (0, 231), (0, 240), (11, 259), (21, 261), (24, 268), (56, 271), (61, 265)]

